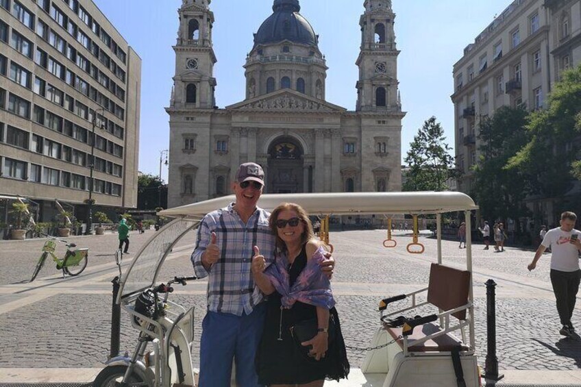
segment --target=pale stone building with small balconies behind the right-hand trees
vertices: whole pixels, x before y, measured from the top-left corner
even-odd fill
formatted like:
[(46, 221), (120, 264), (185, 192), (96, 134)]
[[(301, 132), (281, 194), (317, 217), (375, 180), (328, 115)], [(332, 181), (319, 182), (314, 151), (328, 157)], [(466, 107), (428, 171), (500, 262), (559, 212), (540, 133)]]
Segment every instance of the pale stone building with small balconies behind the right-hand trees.
[[(458, 190), (470, 194), (473, 188), (480, 120), (501, 106), (543, 108), (563, 69), (580, 63), (581, 0), (512, 1), (464, 49), (454, 64), (452, 95), (456, 163), (464, 174)], [(550, 203), (534, 202), (531, 209), (547, 219)]]

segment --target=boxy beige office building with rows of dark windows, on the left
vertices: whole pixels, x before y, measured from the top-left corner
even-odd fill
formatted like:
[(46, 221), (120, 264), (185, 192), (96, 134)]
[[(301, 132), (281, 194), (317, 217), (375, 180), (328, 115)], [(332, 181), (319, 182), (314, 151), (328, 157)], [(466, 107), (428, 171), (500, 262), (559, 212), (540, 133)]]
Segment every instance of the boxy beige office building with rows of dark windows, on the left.
[(136, 206), (140, 76), (92, 1), (0, 0), (0, 223), (16, 196), (37, 221), (54, 199), (84, 221), (90, 191), (94, 210)]

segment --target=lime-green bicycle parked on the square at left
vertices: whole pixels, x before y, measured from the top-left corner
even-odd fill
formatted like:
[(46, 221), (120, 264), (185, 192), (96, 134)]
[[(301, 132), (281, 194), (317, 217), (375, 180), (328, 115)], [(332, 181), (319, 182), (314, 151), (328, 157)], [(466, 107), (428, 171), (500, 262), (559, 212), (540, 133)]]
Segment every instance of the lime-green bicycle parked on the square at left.
[[(34, 273), (32, 274), (32, 279), (30, 279), (30, 282), (34, 281), (38, 273), (40, 273), (42, 266), (45, 266), (45, 262), (49, 255), (56, 263), (56, 268), (58, 270), (62, 270), (63, 278), (66, 274), (73, 277), (75, 275), (81, 274), (87, 267), (89, 249), (74, 249), (77, 247), (75, 243), (69, 243), (66, 242), (66, 240), (55, 238), (53, 236), (48, 237), (49, 240), (47, 240), (45, 245), (42, 246), (42, 254), (38, 259), (38, 263), (36, 264), (36, 268), (34, 269)], [(66, 245), (66, 253), (64, 253), (64, 258), (62, 259), (59, 259), (54, 253), (56, 249), (55, 241), (63, 242)]]

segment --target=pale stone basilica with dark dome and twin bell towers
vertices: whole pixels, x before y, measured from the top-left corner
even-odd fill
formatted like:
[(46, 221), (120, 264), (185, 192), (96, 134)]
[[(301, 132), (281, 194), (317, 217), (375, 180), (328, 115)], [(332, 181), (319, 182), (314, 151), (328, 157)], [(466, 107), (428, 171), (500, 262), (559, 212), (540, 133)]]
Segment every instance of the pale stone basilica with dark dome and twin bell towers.
[(299, 0), (274, 0), (246, 58), (246, 99), (217, 108), (210, 3), (183, 0), (178, 10), (170, 208), (230, 195), (243, 162), (264, 168), (269, 193), (401, 190), (405, 112), (390, 0), (363, 4), (355, 110), (326, 101), (327, 63)]

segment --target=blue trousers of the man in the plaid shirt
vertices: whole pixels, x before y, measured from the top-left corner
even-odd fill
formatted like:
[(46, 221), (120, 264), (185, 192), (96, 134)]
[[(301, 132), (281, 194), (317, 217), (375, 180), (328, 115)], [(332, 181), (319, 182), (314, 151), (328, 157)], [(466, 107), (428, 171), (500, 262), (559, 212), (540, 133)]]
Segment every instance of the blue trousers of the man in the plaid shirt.
[(202, 321), (199, 387), (230, 387), (232, 359), (237, 386), (259, 386), (254, 358), (265, 313), (264, 303), (242, 316), (208, 310)]

